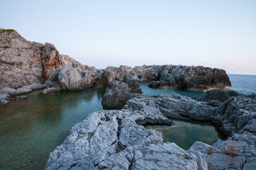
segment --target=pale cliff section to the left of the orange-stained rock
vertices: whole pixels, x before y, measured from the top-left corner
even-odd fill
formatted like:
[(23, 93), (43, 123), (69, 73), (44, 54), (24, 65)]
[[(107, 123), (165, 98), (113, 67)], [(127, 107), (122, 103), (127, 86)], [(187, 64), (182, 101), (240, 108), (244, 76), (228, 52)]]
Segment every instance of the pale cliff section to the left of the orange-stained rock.
[(0, 33), (0, 89), (43, 83), (42, 46), (16, 31)]

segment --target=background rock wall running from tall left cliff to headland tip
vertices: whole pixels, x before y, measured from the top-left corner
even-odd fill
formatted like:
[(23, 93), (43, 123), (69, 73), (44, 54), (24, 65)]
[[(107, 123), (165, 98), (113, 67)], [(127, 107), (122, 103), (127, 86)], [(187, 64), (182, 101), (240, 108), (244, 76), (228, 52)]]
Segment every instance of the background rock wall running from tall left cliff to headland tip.
[[(26, 94), (33, 89), (50, 88), (42, 94), (53, 91), (81, 91), (109, 86), (113, 81), (124, 81), (132, 89), (136, 81), (149, 81), (153, 88), (169, 86), (174, 89), (204, 91), (212, 88), (224, 89), (231, 86), (223, 69), (181, 65), (151, 65), (142, 67), (107, 67), (96, 69), (80, 64), (60, 55), (54, 45), (25, 40), (15, 30), (0, 31), (0, 105), (11, 101), (13, 92)], [(134, 84), (135, 82), (135, 84)], [(40, 86), (33, 88), (33, 84)], [(41, 85), (38, 85), (41, 84)], [(11, 89), (5, 89), (6, 87)]]

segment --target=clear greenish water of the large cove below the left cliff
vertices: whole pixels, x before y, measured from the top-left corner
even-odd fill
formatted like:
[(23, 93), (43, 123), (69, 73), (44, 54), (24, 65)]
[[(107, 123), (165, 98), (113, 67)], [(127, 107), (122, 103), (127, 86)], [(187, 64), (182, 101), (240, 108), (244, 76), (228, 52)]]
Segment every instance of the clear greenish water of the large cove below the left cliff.
[(1, 106), (0, 169), (43, 169), (70, 128), (102, 110), (104, 91), (62, 91), (54, 96), (34, 91), (26, 100)]

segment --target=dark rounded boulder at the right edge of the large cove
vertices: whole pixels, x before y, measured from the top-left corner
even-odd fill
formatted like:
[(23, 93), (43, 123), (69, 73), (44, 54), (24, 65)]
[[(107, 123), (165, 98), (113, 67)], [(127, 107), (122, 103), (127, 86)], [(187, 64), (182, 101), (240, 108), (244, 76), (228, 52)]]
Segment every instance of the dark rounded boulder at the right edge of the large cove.
[(122, 81), (112, 81), (102, 97), (102, 106), (105, 109), (122, 108), (135, 94), (142, 94), (142, 89), (131, 89)]

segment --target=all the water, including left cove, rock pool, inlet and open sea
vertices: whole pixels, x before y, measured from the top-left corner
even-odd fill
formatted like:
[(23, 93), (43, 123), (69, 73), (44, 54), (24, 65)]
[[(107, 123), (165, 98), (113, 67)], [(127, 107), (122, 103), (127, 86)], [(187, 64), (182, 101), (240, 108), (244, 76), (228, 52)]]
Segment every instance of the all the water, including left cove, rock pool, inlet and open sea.
[[(228, 76), (232, 84), (230, 90), (242, 94), (256, 93), (256, 76)], [(205, 93), (151, 89), (146, 83), (141, 83), (140, 87), (148, 96), (176, 93), (198, 97)], [(53, 96), (41, 96), (40, 92), (33, 91), (23, 101), (0, 106), (0, 169), (43, 169), (50, 152), (63, 143), (73, 125), (94, 111), (102, 111), (105, 89), (60, 91)], [(175, 142), (183, 149), (188, 149), (195, 141), (212, 145), (223, 138), (217, 128), (206, 123), (174, 120), (172, 126), (145, 125), (146, 128), (159, 130), (166, 142)]]

